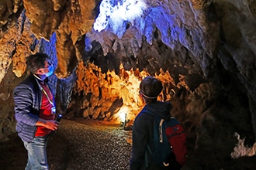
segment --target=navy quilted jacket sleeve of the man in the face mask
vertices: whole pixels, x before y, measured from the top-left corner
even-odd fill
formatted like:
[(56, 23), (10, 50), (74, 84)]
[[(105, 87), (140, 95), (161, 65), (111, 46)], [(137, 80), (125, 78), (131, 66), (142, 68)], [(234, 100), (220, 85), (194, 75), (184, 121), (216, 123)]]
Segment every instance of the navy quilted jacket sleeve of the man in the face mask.
[(33, 90), (26, 84), (20, 84), (13, 93), (14, 98), (14, 111), (16, 121), (34, 126), (39, 117), (31, 113), (33, 110)]

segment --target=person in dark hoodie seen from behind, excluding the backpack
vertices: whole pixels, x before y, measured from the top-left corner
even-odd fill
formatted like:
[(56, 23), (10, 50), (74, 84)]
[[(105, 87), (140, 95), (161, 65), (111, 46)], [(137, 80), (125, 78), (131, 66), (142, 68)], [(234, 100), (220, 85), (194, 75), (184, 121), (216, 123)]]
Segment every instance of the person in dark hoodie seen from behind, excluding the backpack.
[(160, 80), (153, 76), (147, 76), (140, 83), (140, 97), (143, 98), (144, 109), (140, 111), (133, 123), (133, 146), (132, 158), (130, 160), (131, 170), (140, 169), (169, 169), (157, 166), (151, 157), (147, 145), (153, 148), (154, 139), (154, 116), (146, 113), (147, 111), (158, 114), (164, 119), (171, 117), (171, 104), (169, 102), (157, 101), (158, 95), (163, 89)]

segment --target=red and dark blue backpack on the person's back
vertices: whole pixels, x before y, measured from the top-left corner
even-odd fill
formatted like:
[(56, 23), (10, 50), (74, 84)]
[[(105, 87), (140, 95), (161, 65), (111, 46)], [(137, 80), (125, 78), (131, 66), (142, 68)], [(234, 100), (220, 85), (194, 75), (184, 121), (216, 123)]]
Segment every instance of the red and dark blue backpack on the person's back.
[(154, 162), (161, 167), (182, 168), (187, 155), (184, 128), (175, 117), (164, 120), (157, 114), (146, 112), (154, 115), (154, 148), (147, 145)]

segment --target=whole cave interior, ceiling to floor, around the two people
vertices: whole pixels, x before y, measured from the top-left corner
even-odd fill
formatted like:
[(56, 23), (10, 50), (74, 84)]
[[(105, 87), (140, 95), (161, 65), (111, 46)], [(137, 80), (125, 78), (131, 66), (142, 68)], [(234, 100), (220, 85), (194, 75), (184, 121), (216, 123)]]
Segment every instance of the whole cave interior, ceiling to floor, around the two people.
[(161, 80), (157, 99), (185, 128), (184, 169), (256, 168), (255, 1), (2, 0), (0, 14), (3, 169), (26, 166), (12, 93), (37, 52), (54, 63), (64, 117), (49, 141), (50, 169), (129, 169), (146, 76)]

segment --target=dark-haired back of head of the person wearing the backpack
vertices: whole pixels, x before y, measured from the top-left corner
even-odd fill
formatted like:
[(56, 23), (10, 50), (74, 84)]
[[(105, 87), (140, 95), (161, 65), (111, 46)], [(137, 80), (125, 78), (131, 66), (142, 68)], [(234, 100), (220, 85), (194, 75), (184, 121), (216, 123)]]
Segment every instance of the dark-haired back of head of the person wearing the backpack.
[(163, 85), (161, 81), (153, 76), (147, 76), (140, 82), (140, 93), (146, 100), (146, 103), (156, 101), (162, 90)]

